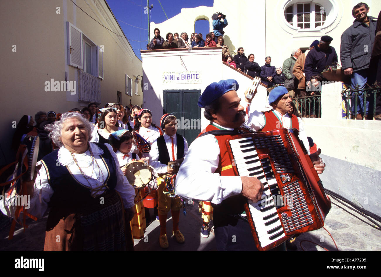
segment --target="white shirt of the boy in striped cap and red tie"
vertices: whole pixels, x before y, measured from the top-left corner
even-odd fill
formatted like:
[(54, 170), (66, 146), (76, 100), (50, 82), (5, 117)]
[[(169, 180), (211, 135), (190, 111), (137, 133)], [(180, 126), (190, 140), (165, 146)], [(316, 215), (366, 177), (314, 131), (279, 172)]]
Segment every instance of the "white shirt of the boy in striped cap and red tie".
[[(171, 137), (169, 135), (167, 135), (167, 134), (164, 134), (163, 136), (164, 136), (165, 145), (167, 147), (168, 154), (169, 154), (169, 157), (170, 157), (170, 161), (174, 161), (176, 159), (176, 154), (177, 154), (177, 138), (176, 138), (176, 134), (174, 134)], [(172, 140), (171, 140), (171, 138), (173, 138), (174, 159), (172, 157)], [(188, 152), (188, 142), (184, 138), (184, 157), (186, 156), (187, 152)], [(157, 139), (155, 139), (154, 143), (152, 143), (151, 150), (149, 151), (149, 164), (159, 174), (163, 174), (163, 173), (167, 172), (167, 165), (166, 164), (162, 164), (162, 163), (159, 162), (159, 149), (158, 149), (158, 146), (157, 146)]]

